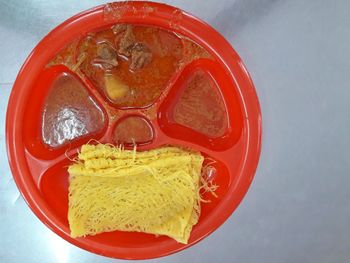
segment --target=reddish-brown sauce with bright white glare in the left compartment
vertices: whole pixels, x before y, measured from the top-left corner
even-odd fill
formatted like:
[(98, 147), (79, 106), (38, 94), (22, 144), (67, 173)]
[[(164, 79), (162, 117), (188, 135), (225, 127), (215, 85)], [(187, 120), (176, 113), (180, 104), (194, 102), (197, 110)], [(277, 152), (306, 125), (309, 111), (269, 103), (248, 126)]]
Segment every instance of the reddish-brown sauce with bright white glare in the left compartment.
[(42, 116), (42, 139), (51, 147), (101, 130), (102, 110), (84, 85), (72, 74), (62, 73), (52, 83)]

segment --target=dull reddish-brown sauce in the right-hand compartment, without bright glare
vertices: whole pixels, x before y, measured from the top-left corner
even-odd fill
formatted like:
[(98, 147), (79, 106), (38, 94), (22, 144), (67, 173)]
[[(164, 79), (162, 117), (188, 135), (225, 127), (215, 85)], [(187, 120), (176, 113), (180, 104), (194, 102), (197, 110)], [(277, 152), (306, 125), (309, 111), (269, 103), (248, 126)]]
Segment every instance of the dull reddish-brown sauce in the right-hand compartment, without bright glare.
[(197, 71), (185, 84), (173, 110), (176, 123), (211, 138), (223, 136), (228, 127), (226, 107), (214, 80)]

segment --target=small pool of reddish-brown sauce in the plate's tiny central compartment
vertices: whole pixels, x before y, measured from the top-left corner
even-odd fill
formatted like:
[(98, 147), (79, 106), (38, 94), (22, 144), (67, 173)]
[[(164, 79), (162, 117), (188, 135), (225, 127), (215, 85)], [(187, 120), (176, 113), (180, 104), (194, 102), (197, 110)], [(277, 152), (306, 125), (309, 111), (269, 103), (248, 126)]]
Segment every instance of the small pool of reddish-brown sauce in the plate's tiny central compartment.
[(122, 119), (114, 130), (116, 143), (147, 143), (153, 139), (151, 124), (143, 117), (129, 116)]

